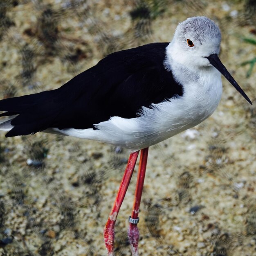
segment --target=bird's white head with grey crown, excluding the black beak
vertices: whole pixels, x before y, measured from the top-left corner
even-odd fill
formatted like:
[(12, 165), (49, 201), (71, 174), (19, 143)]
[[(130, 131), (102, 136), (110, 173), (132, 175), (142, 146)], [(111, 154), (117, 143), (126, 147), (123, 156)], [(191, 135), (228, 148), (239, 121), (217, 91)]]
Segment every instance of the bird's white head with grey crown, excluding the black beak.
[(207, 17), (188, 18), (180, 23), (172, 41), (172, 58), (191, 68), (211, 65), (205, 57), (220, 53), (219, 27)]

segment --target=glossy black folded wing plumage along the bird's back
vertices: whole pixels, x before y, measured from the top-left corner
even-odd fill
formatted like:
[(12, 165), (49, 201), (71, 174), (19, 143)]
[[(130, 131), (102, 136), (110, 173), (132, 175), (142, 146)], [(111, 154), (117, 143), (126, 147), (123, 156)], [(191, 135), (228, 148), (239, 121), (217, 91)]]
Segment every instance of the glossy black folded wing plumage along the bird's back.
[(112, 53), (56, 90), (4, 99), (2, 115), (19, 114), (7, 137), (47, 128), (92, 128), (110, 117), (132, 118), (151, 103), (182, 96), (182, 86), (164, 66), (168, 43)]

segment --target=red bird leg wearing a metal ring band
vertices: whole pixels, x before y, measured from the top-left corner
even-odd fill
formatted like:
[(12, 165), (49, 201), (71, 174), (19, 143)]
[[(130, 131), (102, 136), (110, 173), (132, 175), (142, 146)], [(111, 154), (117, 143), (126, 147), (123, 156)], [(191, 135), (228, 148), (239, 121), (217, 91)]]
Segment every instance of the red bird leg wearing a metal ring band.
[(144, 178), (146, 174), (146, 165), (148, 159), (148, 148), (144, 148), (140, 152), (139, 159), (139, 171), (137, 177), (137, 184), (135, 189), (135, 196), (133, 202), (132, 214), (129, 218), (129, 227), (128, 227), (128, 239), (132, 249), (132, 256), (138, 256), (138, 242), (139, 242), (139, 229), (137, 223), (139, 222), (139, 204), (141, 201), (141, 195), (143, 190)]

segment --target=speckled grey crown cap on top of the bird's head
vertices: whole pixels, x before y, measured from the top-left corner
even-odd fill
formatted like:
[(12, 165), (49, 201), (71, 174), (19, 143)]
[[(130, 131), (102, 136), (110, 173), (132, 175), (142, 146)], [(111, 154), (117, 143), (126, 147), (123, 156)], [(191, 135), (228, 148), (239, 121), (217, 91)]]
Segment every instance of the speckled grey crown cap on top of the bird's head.
[[(221, 39), (220, 29), (213, 20), (204, 16), (188, 18), (177, 26), (175, 36), (180, 40), (197, 39), (202, 43), (211, 38)], [(193, 38), (190, 38), (193, 36)]]

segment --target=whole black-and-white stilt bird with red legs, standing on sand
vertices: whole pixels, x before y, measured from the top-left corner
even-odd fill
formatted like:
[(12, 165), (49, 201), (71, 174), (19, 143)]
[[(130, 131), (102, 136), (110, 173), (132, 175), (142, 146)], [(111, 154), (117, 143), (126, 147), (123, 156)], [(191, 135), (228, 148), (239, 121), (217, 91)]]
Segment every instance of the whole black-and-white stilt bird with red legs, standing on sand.
[(103, 236), (114, 255), (115, 222), (140, 152), (128, 218), (132, 255), (139, 255), (139, 205), (148, 148), (207, 119), (222, 96), (221, 74), (250, 99), (221, 63), (221, 32), (205, 16), (177, 25), (167, 43), (150, 43), (104, 57), (55, 90), (2, 99), (6, 137), (49, 132), (128, 148), (130, 157)]

